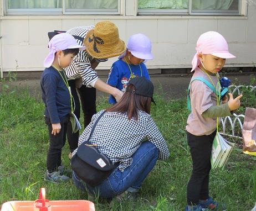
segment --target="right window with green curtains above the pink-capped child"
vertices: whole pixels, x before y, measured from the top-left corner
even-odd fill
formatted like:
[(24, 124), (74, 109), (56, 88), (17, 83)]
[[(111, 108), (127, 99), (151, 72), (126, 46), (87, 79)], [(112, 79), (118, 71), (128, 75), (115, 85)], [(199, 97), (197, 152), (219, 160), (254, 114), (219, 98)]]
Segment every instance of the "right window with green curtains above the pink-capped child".
[(138, 0), (138, 13), (240, 15), (240, 0)]

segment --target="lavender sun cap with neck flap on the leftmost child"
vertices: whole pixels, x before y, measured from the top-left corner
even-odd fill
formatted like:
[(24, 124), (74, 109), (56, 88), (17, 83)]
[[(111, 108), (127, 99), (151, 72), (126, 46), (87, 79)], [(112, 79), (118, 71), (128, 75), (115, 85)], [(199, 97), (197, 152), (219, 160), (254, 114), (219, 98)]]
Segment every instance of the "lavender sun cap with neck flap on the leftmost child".
[(44, 60), (44, 67), (50, 67), (53, 64), (55, 52), (66, 49), (85, 50), (85, 46), (78, 45), (75, 38), (68, 33), (60, 33), (55, 35), (49, 41), (50, 52)]

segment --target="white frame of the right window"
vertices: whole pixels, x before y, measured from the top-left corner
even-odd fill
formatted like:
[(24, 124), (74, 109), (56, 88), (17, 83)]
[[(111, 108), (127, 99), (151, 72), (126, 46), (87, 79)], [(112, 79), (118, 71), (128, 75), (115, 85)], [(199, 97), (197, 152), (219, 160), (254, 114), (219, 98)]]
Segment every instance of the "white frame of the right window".
[[(238, 12), (233, 10), (198, 10), (192, 9), (192, 1), (188, 0), (188, 9), (139, 9), (139, 0), (137, 1), (137, 15), (224, 15), (224, 16), (240, 16), (242, 14), (243, 0), (238, 0)], [(246, 2), (245, 2), (246, 3)], [(196, 12), (195, 12), (196, 11)], [(217, 12), (216, 12), (217, 11)]]

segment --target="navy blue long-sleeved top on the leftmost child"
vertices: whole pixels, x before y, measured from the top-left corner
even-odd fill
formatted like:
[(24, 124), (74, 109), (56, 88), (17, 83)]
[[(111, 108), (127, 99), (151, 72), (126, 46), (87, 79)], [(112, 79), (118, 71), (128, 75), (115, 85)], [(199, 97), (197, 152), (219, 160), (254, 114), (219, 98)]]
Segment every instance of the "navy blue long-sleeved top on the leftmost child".
[[(65, 79), (65, 72), (60, 73)], [(60, 73), (52, 66), (45, 68), (40, 81), (45, 105), (44, 115), (50, 118), (52, 124), (60, 123), (71, 112), (69, 90)]]

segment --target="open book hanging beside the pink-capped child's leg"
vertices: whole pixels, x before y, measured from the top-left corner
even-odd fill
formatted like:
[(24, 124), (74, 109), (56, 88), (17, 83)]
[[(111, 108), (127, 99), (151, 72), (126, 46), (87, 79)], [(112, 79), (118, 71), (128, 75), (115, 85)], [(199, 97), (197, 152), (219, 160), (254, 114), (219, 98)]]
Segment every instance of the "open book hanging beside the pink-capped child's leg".
[(217, 132), (212, 144), (212, 168), (224, 167), (233, 147), (234, 143), (227, 141)]

